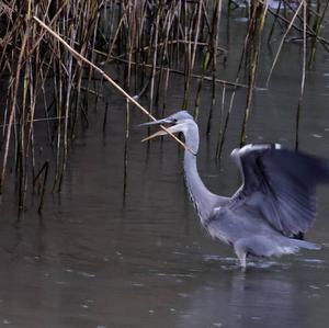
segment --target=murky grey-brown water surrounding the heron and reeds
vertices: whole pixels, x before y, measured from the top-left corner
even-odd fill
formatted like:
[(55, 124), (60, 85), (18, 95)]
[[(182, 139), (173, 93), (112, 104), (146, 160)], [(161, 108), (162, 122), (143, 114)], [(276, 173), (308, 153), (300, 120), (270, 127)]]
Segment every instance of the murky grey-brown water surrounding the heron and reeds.
[[(243, 24), (231, 23), (231, 47)], [(283, 52), (271, 90), (256, 93), (249, 142), (294, 146), (302, 54), (298, 45)], [(228, 67), (238, 56), (229, 57)], [(307, 73), (300, 148), (329, 158), (328, 59), (320, 53), (316, 69)], [(263, 60), (269, 69), (273, 57)], [(268, 72), (259, 72), (260, 87)], [(220, 76), (234, 80), (235, 70)], [(171, 112), (179, 109), (181, 90), (177, 79)], [(319, 190), (318, 219), (307, 236), (322, 246), (320, 251), (254, 260), (241, 273), (232, 251), (200, 227), (183, 184), (182, 151), (169, 138), (140, 144), (145, 131), (134, 126), (145, 117), (135, 110), (123, 202), (125, 106), (111, 97), (106, 131), (100, 105), (72, 145), (61, 194), (47, 195), (42, 216), (32, 210), (37, 201), (32, 197), (32, 208), (15, 224), (15, 201), (10, 192), (2, 200), (0, 326), (327, 327), (329, 188)], [(220, 97), (218, 88), (218, 104)], [(206, 122), (200, 122), (200, 171), (219, 194), (239, 185), (229, 152), (239, 140), (245, 97), (242, 90), (236, 97), (220, 166), (214, 160), (215, 128), (205, 137)]]

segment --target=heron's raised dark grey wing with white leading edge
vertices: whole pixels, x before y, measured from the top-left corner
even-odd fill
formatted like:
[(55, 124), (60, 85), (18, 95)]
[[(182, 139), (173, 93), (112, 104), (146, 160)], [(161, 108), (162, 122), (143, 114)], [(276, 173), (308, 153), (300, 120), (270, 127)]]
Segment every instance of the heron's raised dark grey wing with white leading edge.
[(243, 184), (229, 206), (259, 211), (285, 236), (304, 234), (315, 219), (316, 185), (329, 182), (328, 161), (280, 145), (247, 145), (232, 157)]

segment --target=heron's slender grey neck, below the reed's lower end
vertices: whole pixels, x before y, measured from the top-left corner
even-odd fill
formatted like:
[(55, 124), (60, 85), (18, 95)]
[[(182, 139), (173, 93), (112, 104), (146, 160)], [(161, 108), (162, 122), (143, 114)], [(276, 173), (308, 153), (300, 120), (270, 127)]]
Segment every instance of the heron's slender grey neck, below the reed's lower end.
[[(186, 146), (189, 146), (188, 143)], [(213, 194), (204, 185), (197, 172), (196, 156), (193, 155), (190, 150), (185, 150), (184, 171), (186, 188), (189, 190), (191, 200), (197, 211), (201, 222), (204, 223), (211, 216), (213, 208), (218, 201), (218, 196)]]

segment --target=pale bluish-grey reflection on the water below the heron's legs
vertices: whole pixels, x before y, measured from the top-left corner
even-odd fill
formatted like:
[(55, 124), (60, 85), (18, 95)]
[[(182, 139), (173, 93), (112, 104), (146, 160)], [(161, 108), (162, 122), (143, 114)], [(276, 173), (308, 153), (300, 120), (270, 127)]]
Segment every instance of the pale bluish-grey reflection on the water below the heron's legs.
[(177, 326), (306, 327), (298, 297), (284, 275), (230, 272), (220, 284), (212, 278), (191, 293)]

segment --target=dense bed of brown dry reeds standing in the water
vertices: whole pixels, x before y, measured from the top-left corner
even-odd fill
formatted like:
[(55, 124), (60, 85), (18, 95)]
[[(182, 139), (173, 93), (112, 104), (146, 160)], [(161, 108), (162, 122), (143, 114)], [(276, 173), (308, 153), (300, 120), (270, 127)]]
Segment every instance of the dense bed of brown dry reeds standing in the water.
[[(164, 115), (168, 86), (177, 73), (184, 77), (182, 108), (188, 109), (193, 102), (195, 117), (207, 115), (207, 133), (213, 126), (213, 111), (217, 106), (220, 109), (220, 122), (215, 131), (219, 158), (237, 88), (247, 88), (240, 132), (241, 144), (246, 140), (261, 43), (270, 42), (273, 31), (282, 33), (273, 68), (291, 31), (294, 30), (304, 41), (303, 78), (296, 113), (297, 146), (306, 66), (313, 65), (318, 45), (327, 50), (329, 48), (329, 42), (320, 35), (328, 1), (317, 1), (316, 8), (309, 7), (306, 1), (297, 1), (297, 5), (296, 1), (281, 3), (285, 8), (281, 11), (271, 9), (268, 1), (250, 1), (247, 5), (249, 23), (236, 80), (225, 81), (218, 78), (218, 60), (229, 53), (220, 44), (220, 20), (224, 8), (227, 8), (226, 15), (231, 14), (237, 5), (235, 1), (1, 1), (0, 72), (7, 84), (7, 98), (1, 113), (0, 192), (3, 191), (9, 166), (16, 173), (20, 208), (24, 207), (26, 191), (33, 184), (33, 189), (41, 193), (38, 211), (42, 211), (45, 188), (50, 184), (47, 182), (50, 167), (55, 171), (52, 190), (60, 191), (75, 127), (81, 122), (88, 123), (88, 98), (93, 94), (99, 99), (103, 82), (111, 82), (97, 68), (110, 61), (125, 67), (120, 83), (123, 89), (116, 88), (115, 83), (113, 86), (125, 98), (127, 93), (136, 94), (134, 100), (126, 102), (125, 109), (125, 176), (132, 102), (148, 92), (149, 113), (156, 113), (157, 109), (157, 113)], [(266, 35), (265, 26), (270, 31)], [(240, 78), (245, 72), (246, 81)], [(271, 75), (272, 70), (269, 80)], [(191, 92), (192, 79), (197, 80), (195, 94)], [(212, 108), (207, 112), (200, 109), (205, 82), (212, 83)], [(219, 104), (216, 104), (217, 86), (222, 88), (223, 95)], [(227, 88), (234, 88), (234, 92), (230, 93), (228, 109), (224, 109)], [(38, 150), (35, 149), (34, 132), (39, 121), (44, 121), (56, 163), (46, 161), (36, 165)]]

